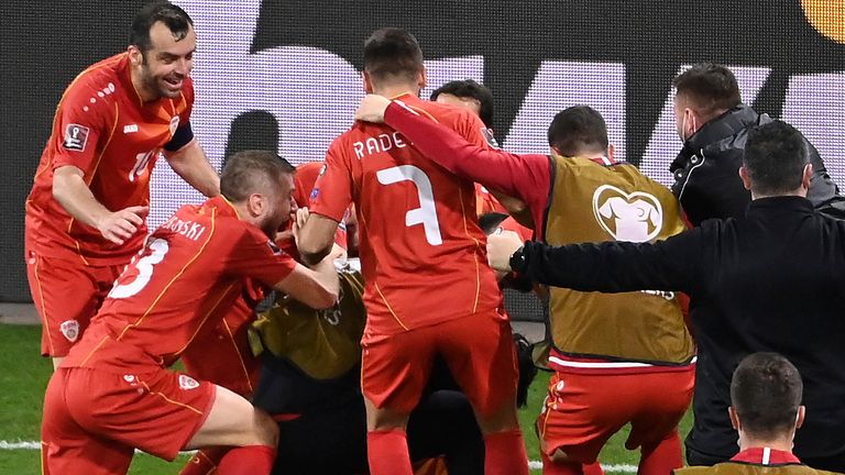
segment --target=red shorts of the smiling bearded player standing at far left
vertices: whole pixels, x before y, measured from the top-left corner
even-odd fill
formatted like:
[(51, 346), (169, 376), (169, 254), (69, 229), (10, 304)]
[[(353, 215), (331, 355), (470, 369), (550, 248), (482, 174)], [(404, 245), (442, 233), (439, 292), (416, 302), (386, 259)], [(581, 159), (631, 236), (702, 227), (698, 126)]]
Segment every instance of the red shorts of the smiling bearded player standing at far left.
[(26, 252), (30, 292), (43, 324), (42, 355), (67, 356), (127, 264), (129, 261), (86, 266), (81, 262)]

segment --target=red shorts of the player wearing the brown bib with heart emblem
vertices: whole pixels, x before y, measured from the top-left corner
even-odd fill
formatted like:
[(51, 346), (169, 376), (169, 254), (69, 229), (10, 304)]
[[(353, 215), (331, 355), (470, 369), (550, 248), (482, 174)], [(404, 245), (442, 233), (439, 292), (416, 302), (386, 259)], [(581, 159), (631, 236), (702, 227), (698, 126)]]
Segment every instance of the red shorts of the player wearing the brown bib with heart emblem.
[(569, 459), (590, 464), (628, 422), (626, 449), (657, 444), (687, 412), (694, 378), (694, 366), (623, 375), (557, 372), (537, 418), (540, 450), (551, 456), (560, 449)]

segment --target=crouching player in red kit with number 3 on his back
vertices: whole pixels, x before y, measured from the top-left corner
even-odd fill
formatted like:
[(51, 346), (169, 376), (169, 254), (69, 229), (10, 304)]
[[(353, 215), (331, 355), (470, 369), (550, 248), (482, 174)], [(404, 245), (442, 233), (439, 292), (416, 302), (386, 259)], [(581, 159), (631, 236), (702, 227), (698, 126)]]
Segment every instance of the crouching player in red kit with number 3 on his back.
[(314, 308), (337, 300), (334, 253), (306, 268), (270, 239), (290, 214), (293, 172), (274, 153), (238, 153), (223, 168), (222, 196), (182, 207), (147, 239), (51, 378), (43, 473), (124, 474), (135, 449), (173, 460), (216, 445), (233, 448), (219, 474), (270, 473), (273, 419), (165, 368), (219, 323), (246, 278)]

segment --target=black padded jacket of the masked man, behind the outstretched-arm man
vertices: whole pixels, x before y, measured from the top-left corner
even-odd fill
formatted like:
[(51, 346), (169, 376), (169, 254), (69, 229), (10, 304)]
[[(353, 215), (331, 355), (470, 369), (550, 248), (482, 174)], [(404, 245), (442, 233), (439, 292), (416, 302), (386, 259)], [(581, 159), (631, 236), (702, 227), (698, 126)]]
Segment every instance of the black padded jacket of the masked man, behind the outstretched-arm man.
[[(738, 218), (751, 196), (743, 187), (738, 170), (748, 131), (751, 126), (771, 122), (767, 114), (758, 114), (748, 106), (739, 104), (699, 129), (674, 158), (669, 169), (674, 176), (672, 192), (681, 202), (693, 225), (711, 218)], [(808, 141), (813, 176), (808, 198), (822, 212), (845, 218), (845, 201), (827, 175), (819, 151)]]

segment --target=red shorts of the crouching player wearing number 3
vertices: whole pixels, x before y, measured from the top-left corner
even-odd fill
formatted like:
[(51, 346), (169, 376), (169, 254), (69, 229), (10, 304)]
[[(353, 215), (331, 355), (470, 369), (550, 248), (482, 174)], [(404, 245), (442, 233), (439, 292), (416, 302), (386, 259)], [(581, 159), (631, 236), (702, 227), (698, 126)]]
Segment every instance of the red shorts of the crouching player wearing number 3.
[(215, 396), (215, 385), (166, 369), (119, 375), (59, 367), (44, 396), (43, 473), (125, 473), (135, 448), (172, 461)]

